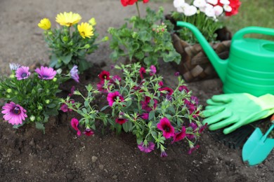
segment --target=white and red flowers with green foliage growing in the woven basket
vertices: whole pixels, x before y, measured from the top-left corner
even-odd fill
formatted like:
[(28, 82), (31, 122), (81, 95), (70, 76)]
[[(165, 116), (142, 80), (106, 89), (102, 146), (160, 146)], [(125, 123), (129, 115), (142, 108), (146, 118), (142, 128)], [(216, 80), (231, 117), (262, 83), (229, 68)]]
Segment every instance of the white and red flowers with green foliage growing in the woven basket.
[[(240, 0), (174, 0), (177, 12), (171, 14), (176, 21), (189, 22), (197, 27), (209, 42), (216, 41), (216, 30), (223, 28), (221, 18), (238, 13)], [(188, 43), (197, 43), (193, 33), (187, 28), (180, 28), (178, 34)]]

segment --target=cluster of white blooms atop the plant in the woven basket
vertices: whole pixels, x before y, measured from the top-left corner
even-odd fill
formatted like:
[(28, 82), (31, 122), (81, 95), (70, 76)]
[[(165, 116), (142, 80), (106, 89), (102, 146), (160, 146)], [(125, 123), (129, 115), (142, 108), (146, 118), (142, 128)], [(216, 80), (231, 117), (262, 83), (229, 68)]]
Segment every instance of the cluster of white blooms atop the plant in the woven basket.
[(193, 1), (193, 5), (186, 3), (185, 0), (174, 0), (174, 7), (178, 13), (183, 13), (185, 16), (192, 16), (196, 13), (203, 12), (208, 17), (214, 19), (222, 15), (223, 11), (230, 12), (232, 8), (229, 4), (229, 0), (195, 0)]

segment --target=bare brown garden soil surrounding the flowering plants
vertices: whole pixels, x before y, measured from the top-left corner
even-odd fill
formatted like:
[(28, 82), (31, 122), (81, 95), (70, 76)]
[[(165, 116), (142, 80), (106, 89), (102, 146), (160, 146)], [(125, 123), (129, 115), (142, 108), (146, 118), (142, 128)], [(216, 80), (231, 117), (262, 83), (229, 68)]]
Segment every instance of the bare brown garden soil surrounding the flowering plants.
[[(142, 14), (146, 6), (173, 10), (172, 3), (141, 3)], [(58, 13), (70, 10), (84, 21), (96, 18), (100, 38), (107, 35), (108, 27), (119, 27), (124, 18), (136, 15), (134, 6), (124, 8), (118, 0), (0, 1), (1, 73), (9, 73), (10, 62), (48, 64), (48, 50), (37, 23), (47, 17), (54, 25)], [(89, 55), (93, 69), (75, 86), (83, 89), (87, 83), (95, 84), (101, 70), (110, 70), (110, 52), (108, 43), (103, 43)], [(161, 63), (161, 67), (160, 73), (172, 87), (176, 70), (170, 64)], [(219, 78), (188, 83), (188, 87), (204, 106), (212, 95), (222, 93)], [(208, 130), (198, 141), (200, 148), (191, 155), (187, 145), (173, 144), (168, 146), (168, 157), (161, 158), (157, 150), (139, 151), (132, 134), (96, 130), (93, 137), (77, 137), (70, 127), (72, 117), (77, 116), (60, 111), (46, 125), (46, 134), (32, 125), (15, 130), (1, 122), (0, 181), (274, 181), (273, 153), (261, 165), (249, 167), (242, 162), (241, 146), (228, 147)]]

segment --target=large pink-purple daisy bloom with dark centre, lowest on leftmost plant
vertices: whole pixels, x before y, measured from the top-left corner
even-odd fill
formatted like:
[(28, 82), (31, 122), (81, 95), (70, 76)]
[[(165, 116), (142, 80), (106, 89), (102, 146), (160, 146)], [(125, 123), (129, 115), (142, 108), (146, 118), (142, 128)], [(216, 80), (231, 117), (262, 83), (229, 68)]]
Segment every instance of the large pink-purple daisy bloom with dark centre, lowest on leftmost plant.
[(4, 120), (11, 123), (11, 125), (21, 125), (22, 120), (27, 118), (26, 110), (22, 108), (19, 104), (15, 104), (14, 102), (6, 103), (3, 106), (4, 109), (1, 113), (4, 113)]

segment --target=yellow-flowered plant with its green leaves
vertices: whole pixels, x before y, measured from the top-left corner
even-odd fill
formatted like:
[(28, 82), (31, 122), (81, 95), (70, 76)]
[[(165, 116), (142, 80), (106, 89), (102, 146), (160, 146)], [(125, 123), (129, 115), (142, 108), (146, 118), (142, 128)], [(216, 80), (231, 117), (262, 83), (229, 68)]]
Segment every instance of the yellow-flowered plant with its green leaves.
[[(98, 49), (100, 42), (96, 42), (96, 20), (91, 18), (89, 22), (78, 24), (80, 20), (81, 15), (78, 13), (64, 12), (56, 16), (60, 28), (51, 29), (48, 18), (39, 22), (38, 26), (44, 29), (44, 38), (51, 48), (51, 67), (70, 70), (77, 65), (80, 73), (91, 67), (91, 63), (86, 61), (86, 55)], [(101, 41), (107, 41), (107, 37)]]

